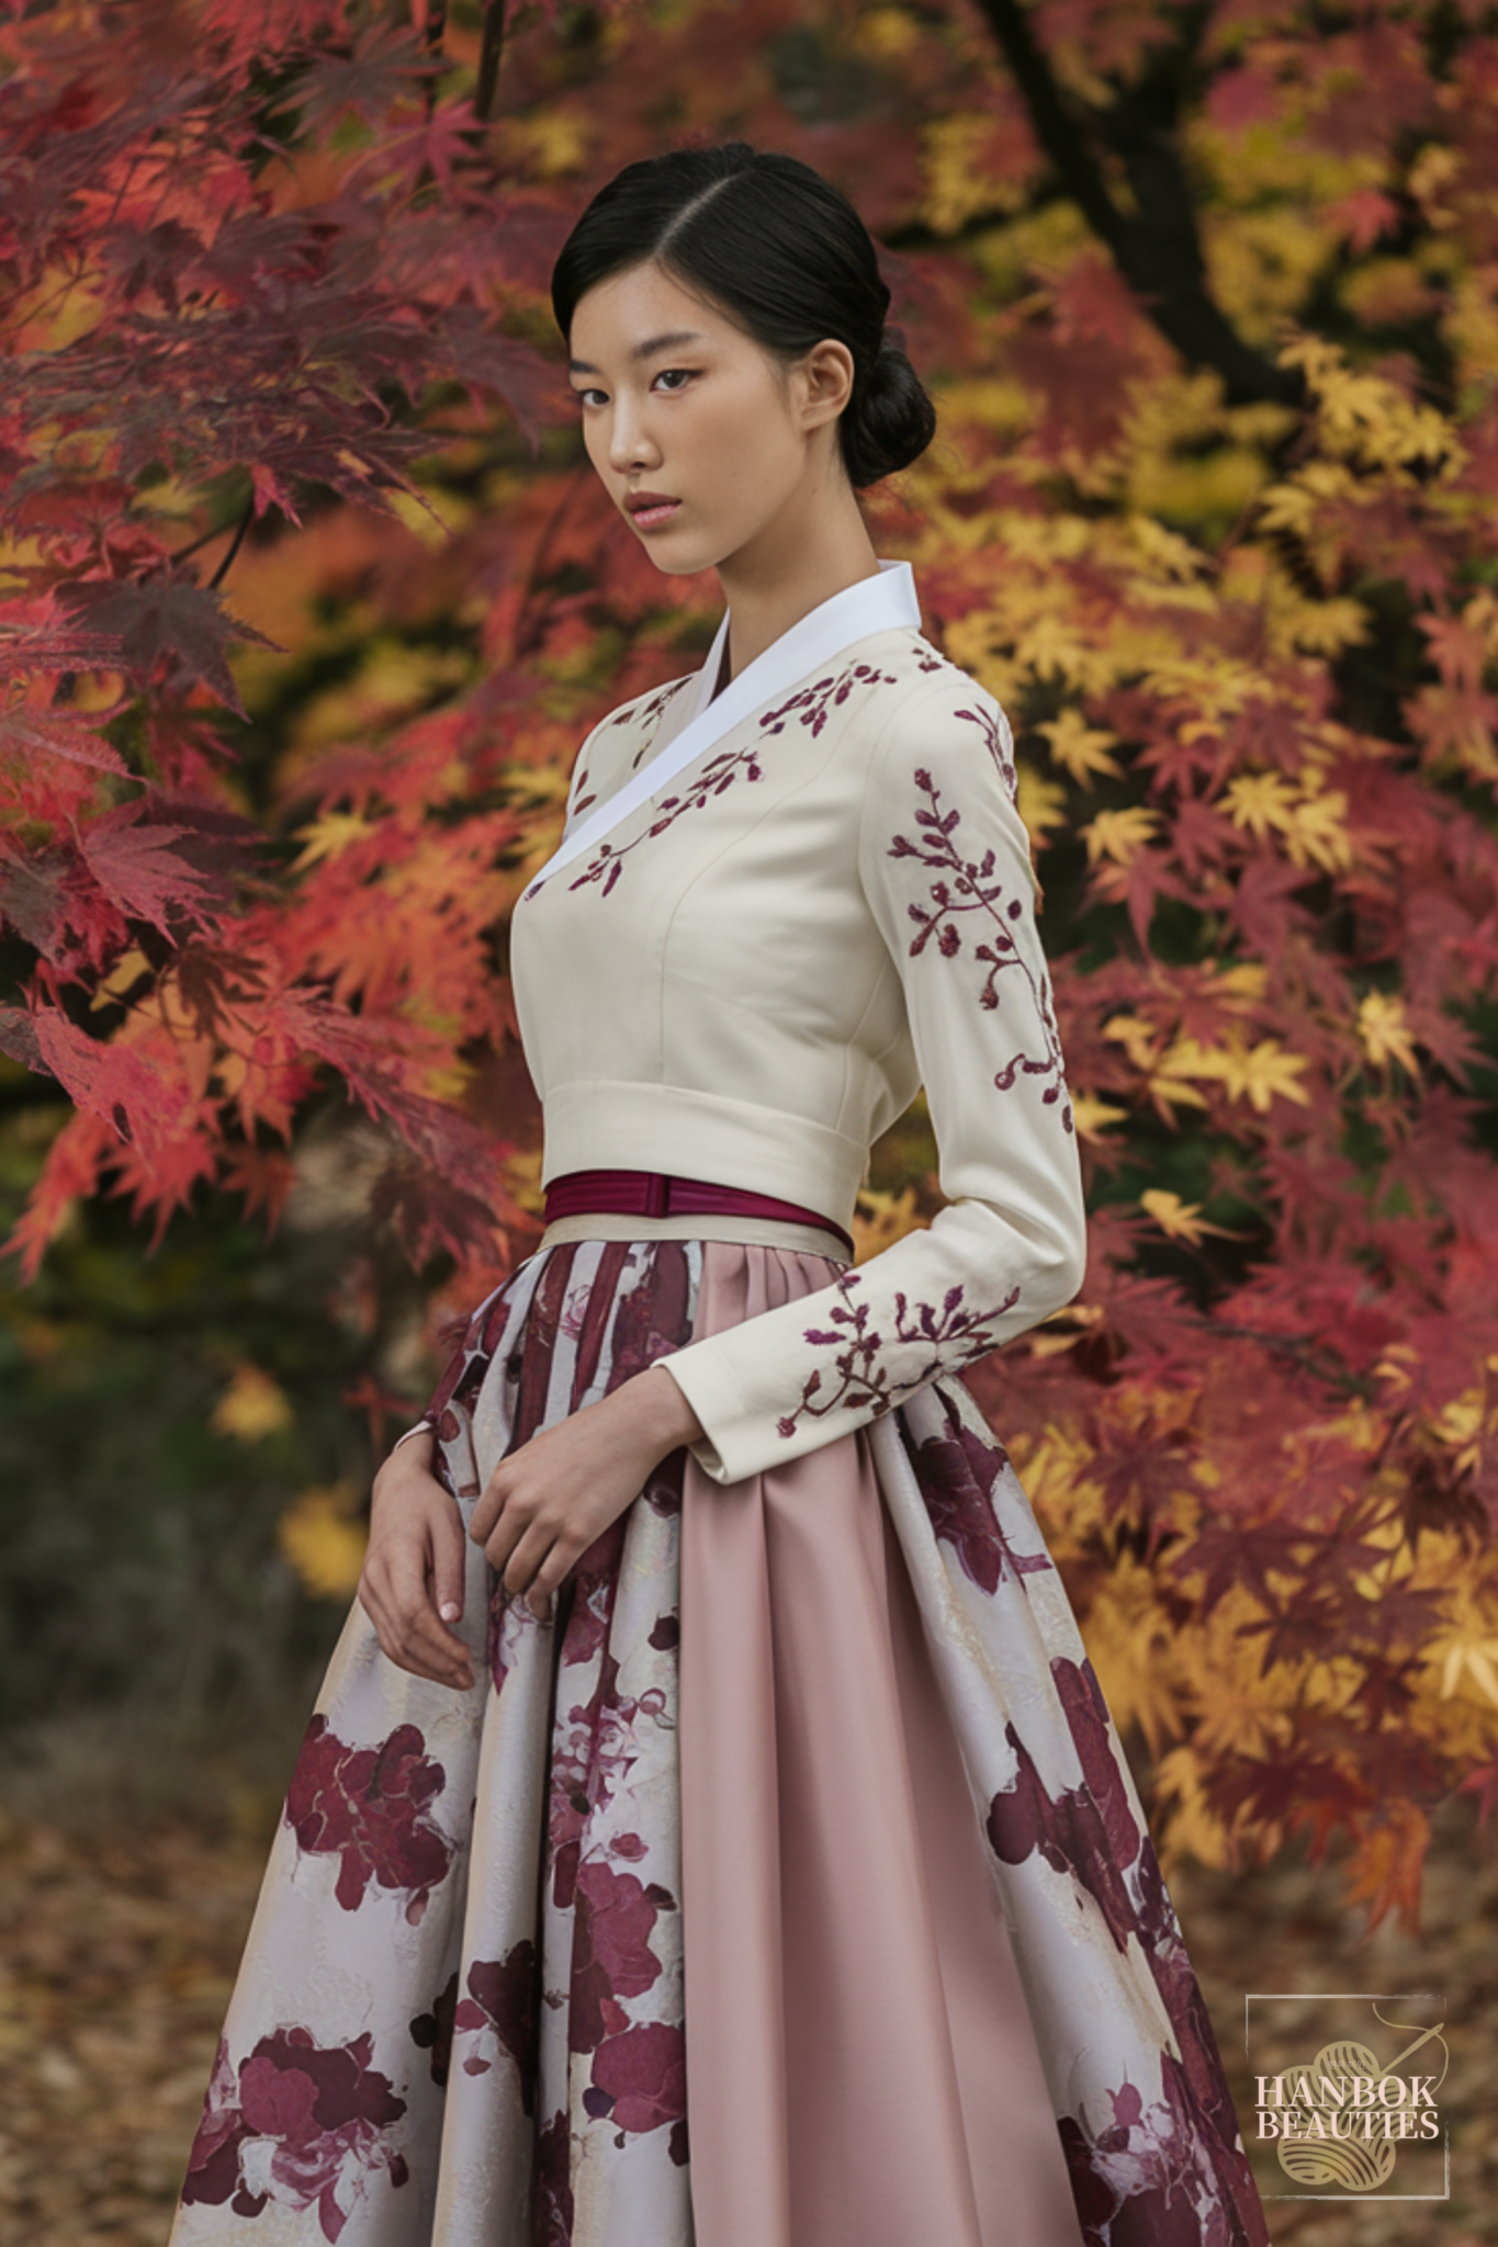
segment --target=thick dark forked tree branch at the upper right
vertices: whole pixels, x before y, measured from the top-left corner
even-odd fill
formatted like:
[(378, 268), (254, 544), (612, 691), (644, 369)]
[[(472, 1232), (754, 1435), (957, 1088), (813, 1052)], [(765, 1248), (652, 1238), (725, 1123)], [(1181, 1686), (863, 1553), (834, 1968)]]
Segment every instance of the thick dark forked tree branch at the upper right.
[[(1213, 366), (1222, 375), (1228, 404), (1253, 404), (1264, 398), (1294, 404), (1300, 395), (1296, 377), (1244, 344), (1206, 283), (1177, 121), (1181, 72), (1202, 38), (1211, 7), (1197, 4), (1186, 11), (1179, 43), (1157, 56), (1139, 85), (1123, 92), (1112, 110), (1087, 112), (1089, 133), (1062, 101), (1022, 0), (979, 0), (979, 7), (1020, 88), (1035, 139), (1139, 297), (1145, 317), (1190, 366)], [(1134, 213), (1121, 211), (1114, 202), (1089, 144), (1094, 137), (1123, 164), (1139, 207)]]

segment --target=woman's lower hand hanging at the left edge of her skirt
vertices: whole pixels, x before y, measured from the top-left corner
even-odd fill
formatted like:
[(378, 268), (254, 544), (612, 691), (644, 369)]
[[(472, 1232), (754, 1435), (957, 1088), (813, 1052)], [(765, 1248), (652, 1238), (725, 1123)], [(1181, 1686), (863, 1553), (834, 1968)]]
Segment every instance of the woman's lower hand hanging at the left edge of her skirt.
[(411, 1676), (467, 1692), (474, 1663), (449, 1625), (463, 1616), (463, 1514), (431, 1472), (431, 1429), (375, 1476), (359, 1604), (382, 1652)]

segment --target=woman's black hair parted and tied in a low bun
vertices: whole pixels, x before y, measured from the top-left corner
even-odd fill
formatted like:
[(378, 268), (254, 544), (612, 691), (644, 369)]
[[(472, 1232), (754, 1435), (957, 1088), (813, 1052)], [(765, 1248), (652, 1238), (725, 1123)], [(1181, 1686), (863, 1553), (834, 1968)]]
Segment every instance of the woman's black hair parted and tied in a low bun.
[(570, 335), (591, 288), (651, 261), (786, 360), (826, 337), (847, 344), (853, 391), (838, 443), (849, 483), (878, 483), (925, 452), (937, 409), (885, 330), (889, 290), (878, 252), (847, 195), (811, 164), (748, 142), (627, 164), (597, 191), (552, 267), (561, 333)]

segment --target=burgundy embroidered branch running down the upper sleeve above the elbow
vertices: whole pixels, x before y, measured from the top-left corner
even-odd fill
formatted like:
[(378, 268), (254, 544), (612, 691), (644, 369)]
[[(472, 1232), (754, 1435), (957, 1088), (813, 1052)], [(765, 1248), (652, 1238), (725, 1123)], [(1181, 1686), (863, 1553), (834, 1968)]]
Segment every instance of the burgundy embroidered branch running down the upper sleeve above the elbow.
[[(972, 717), (972, 712), (961, 715)], [(963, 946), (961, 924), (970, 915), (977, 915), (977, 928), (968, 928), (968, 935), (977, 937), (972, 957), (984, 968), (984, 982), (977, 995), (979, 1007), (997, 1009), (999, 975), (1017, 968), (1029, 986), (1040, 1034), (1044, 1038), (1042, 1056), (1026, 1052), (1013, 1054), (993, 1083), (999, 1092), (1011, 1092), (1017, 1076), (1051, 1079), (1040, 1099), (1047, 1108), (1060, 1101), (1062, 1128), (1074, 1130), (1071, 1101), (1065, 1097), (1067, 1079), (1062, 1070), (1056, 1016), (1051, 1011), (1049, 982), (1044, 971), (1035, 973), (1011, 935), (1011, 924), (1024, 912), (1024, 899), (1011, 897), (1004, 901), (1004, 883), (995, 876), (993, 849), (986, 849), (981, 858), (963, 858), (959, 845), (954, 843), (954, 834), (961, 827), (961, 811), (941, 809), (941, 789), (934, 784), (930, 773), (916, 771), (914, 780), (921, 795), (925, 795), (925, 804), (916, 809), (921, 840), (912, 843), (910, 836), (896, 836), (889, 845), (889, 856), (916, 858), (921, 865), (930, 867), (937, 879), (928, 892), (930, 903), (912, 903), (907, 908), (910, 919), (916, 924), (916, 935), (910, 939), (910, 957), (919, 959), (925, 946), (934, 944), (943, 959), (954, 959)]]

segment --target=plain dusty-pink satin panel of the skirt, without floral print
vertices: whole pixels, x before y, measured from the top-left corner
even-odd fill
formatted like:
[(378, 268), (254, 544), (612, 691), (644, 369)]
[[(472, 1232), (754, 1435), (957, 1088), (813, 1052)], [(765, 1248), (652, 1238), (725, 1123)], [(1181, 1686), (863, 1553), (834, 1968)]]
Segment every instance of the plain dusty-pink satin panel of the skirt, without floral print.
[[(696, 1332), (826, 1263), (705, 1249)], [(683, 1490), (703, 2247), (1078, 2247), (979, 1816), (862, 1440)]]

